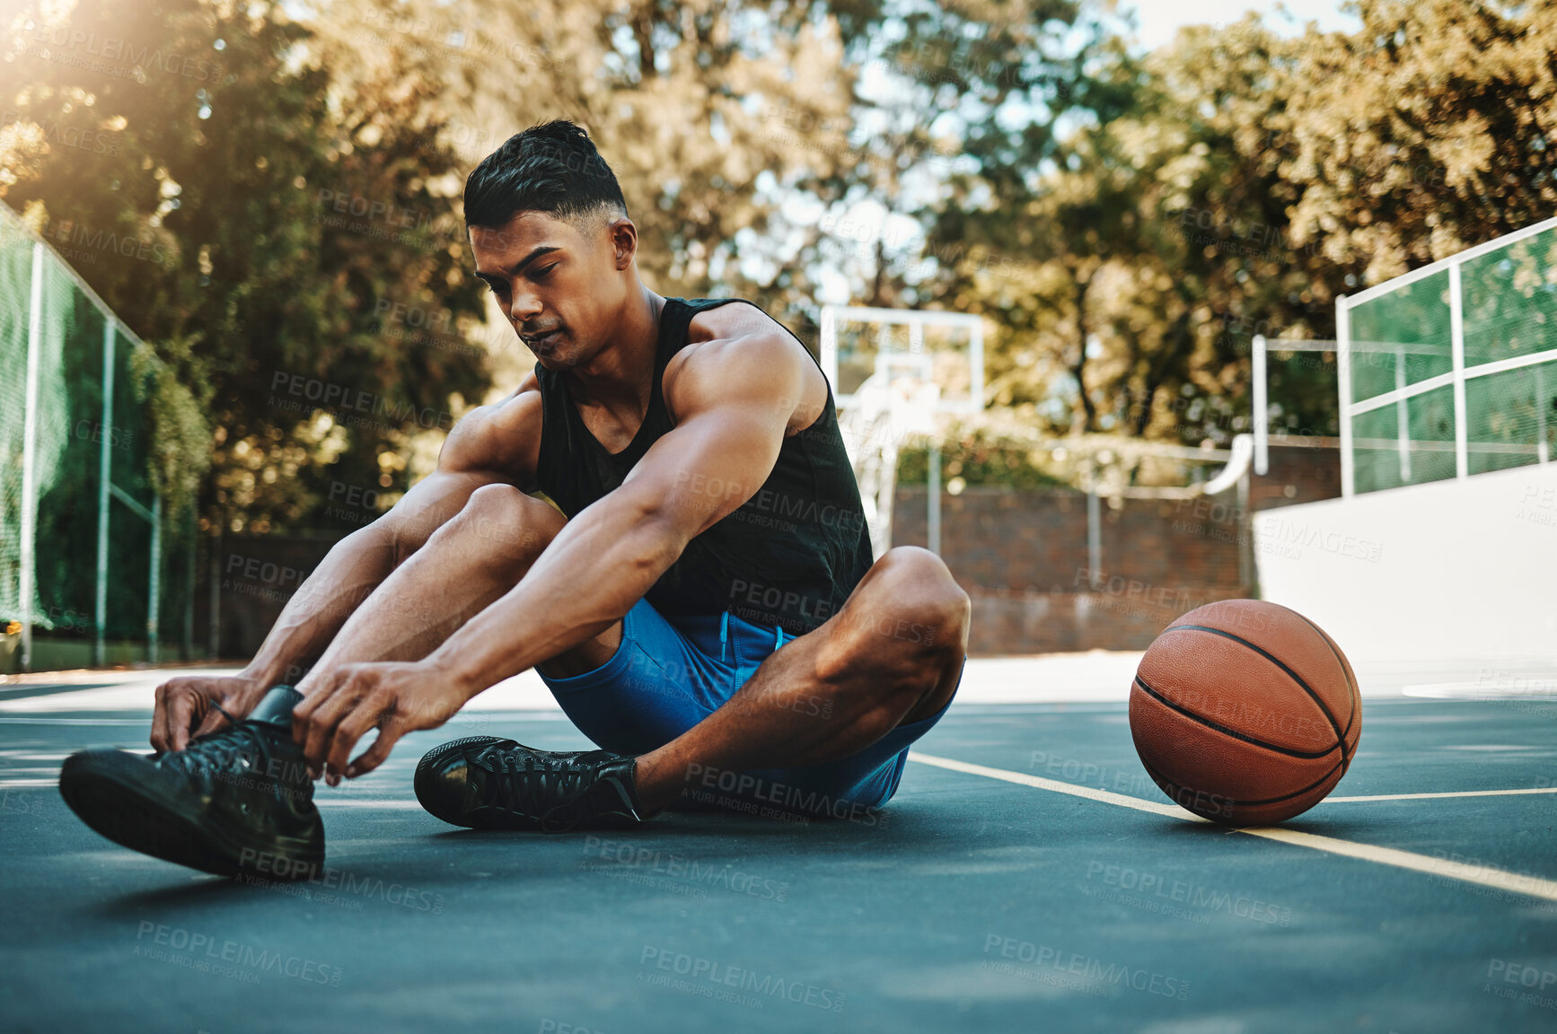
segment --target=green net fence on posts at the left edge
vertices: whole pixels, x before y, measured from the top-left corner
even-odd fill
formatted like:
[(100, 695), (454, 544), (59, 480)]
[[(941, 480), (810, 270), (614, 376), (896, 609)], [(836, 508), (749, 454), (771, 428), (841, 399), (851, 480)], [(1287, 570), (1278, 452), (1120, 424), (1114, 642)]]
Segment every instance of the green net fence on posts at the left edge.
[(154, 368), (148, 347), (0, 206), (8, 670), (154, 660), (160, 629), (187, 624), (192, 514), (165, 514), (151, 480)]

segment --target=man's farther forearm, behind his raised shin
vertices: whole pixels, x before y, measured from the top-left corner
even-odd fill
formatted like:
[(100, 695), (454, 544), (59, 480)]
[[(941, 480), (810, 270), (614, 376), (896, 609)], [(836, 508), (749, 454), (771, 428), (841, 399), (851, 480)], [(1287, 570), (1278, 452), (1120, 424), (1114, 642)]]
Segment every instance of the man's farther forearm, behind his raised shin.
[(296, 682), (394, 567), (394, 545), (383, 529), (367, 526), (336, 542), (286, 601), (243, 673), (268, 684)]

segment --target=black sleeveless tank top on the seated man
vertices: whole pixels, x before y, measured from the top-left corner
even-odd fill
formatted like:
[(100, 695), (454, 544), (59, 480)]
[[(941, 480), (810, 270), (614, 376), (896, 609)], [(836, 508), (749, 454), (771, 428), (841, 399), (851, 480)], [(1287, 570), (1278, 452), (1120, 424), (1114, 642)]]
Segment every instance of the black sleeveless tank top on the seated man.
[[(562, 374), (536, 363), (543, 414), (536, 487), (570, 519), (618, 487), (649, 445), (673, 427), (662, 382), (671, 357), (687, 346), (691, 318), (705, 308), (743, 301), (665, 299), (649, 411), (620, 453), (606, 452), (584, 427)], [(691, 478), (685, 489), (721, 491), (715, 484), (694, 484)], [(828, 385), (822, 416), (783, 441), (761, 489), (691, 539), (645, 598), (666, 617), (729, 610), (738, 618), (803, 635), (844, 606), (869, 568), (870, 534)]]

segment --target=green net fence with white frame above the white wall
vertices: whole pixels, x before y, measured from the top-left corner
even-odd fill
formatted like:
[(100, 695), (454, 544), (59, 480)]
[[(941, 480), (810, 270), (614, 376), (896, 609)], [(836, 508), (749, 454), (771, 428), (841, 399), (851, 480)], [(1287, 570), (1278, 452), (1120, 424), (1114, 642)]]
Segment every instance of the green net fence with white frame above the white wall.
[(1350, 336), (1347, 492), (1551, 461), (1557, 220), (1342, 301), (1337, 321)]

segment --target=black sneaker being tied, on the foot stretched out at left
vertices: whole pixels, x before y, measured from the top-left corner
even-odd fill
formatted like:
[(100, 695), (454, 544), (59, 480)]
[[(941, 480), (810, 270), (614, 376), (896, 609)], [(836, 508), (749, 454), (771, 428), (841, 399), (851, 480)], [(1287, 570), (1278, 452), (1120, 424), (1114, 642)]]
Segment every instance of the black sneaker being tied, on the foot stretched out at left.
[(218, 875), (305, 878), (324, 864), (324, 822), (291, 738), (299, 701), (277, 685), (248, 718), (182, 751), (72, 754), (59, 794), (93, 830), (145, 855)]

